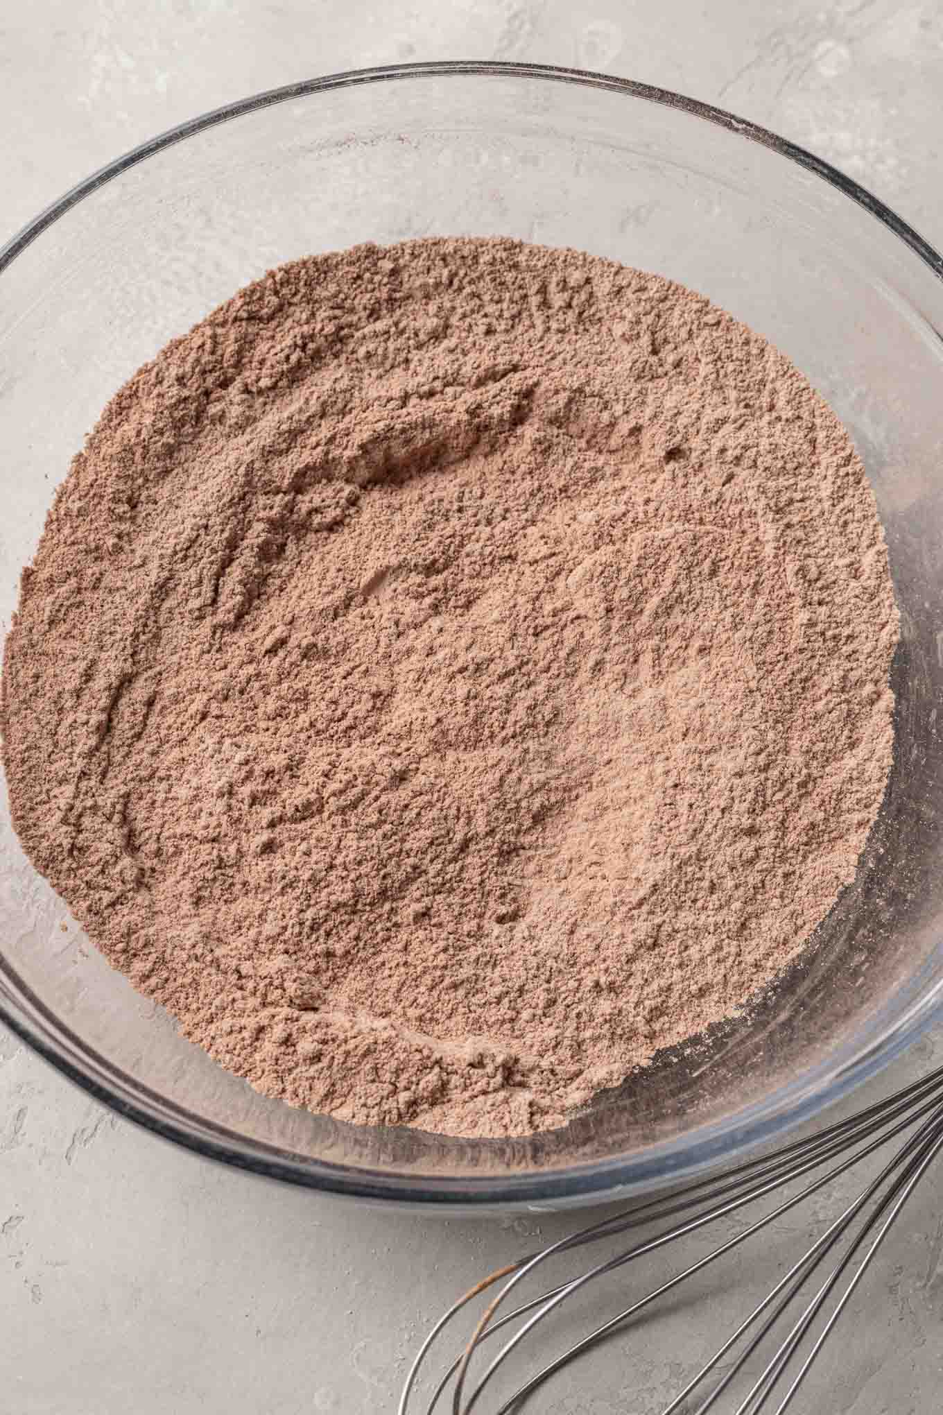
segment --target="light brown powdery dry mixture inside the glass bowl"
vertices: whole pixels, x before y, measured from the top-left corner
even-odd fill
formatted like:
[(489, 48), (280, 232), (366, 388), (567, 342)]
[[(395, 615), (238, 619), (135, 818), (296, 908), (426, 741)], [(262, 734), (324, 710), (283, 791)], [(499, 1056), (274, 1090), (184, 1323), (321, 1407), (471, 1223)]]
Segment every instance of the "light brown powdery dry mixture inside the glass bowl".
[(358, 246), (75, 458), (7, 638), (14, 822), (260, 1091), (526, 1133), (799, 952), (896, 635), (861, 463), (758, 334), (574, 250)]

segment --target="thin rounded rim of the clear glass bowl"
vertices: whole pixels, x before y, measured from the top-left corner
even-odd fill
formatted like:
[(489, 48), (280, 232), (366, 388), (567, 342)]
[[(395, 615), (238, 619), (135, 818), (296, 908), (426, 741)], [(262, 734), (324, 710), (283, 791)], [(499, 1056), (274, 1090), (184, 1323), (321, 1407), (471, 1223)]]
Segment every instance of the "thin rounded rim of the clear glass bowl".
[[(575, 83), (582, 88), (611, 91), (679, 109), (693, 117), (727, 129), (748, 142), (768, 147), (778, 156), (813, 173), (886, 226), (910, 248), (932, 275), (943, 280), (943, 255), (913, 226), (837, 167), (816, 157), (797, 143), (780, 137), (771, 129), (711, 103), (638, 79), (615, 78), (590, 69), (550, 64), (484, 59), (417, 61), (327, 74), (266, 89), (178, 123), (98, 168), (40, 211), (33, 221), (0, 246), (0, 275), (49, 226), (100, 187), (148, 157), (219, 123), (332, 89), (387, 81), (448, 76), (500, 76)], [(28, 999), (28, 1012), (17, 1002), (16, 996), (6, 990), (4, 975), (6, 979), (16, 981), (18, 998)], [(918, 979), (919, 976), (920, 974), (918, 974)], [(905, 1047), (922, 1036), (942, 1012), (943, 981), (920, 993), (889, 1032), (864, 1041), (838, 1065), (828, 1060), (820, 1060), (809, 1073), (744, 1107), (735, 1116), (735, 1153), (742, 1155), (780, 1132), (793, 1129), (826, 1105), (845, 1095), (853, 1087), (888, 1065)], [(38, 1024), (37, 1016), (47, 1019), (48, 1026)], [(541, 1207), (561, 1208), (612, 1200), (619, 1194), (650, 1191), (659, 1184), (672, 1183), (680, 1177), (689, 1179), (715, 1167), (724, 1159), (732, 1157), (728, 1119), (708, 1122), (703, 1128), (691, 1131), (684, 1136), (683, 1152), (679, 1152), (676, 1140), (663, 1140), (640, 1157), (615, 1156), (530, 1173), (508, 1172), (503, 1176), (474, 1179), (423, 1173), (413, 1176), (406, 1170), (389, 1173), (361, 1170), (336, 1162), (291, 1155), (266, 1140), (229, 1131), (221, 1124), (205, 1121), (185, 1107), (168, 1101), (144, 1082), (124, 1075), (120, 1068), (72, 1033), (20, 979), (3, 955), (0, 955), (0, 1020), (69, 1081), (122, 1116), (164, 1139), (174, 1140), (205, 1157), (218, 1159), (257, 1174), (314, 1190), (385, 1200), (387, 1204), (394, 1201), (399, 1207), (440, 1208), (452, 1214), (461, 1210), (481, 1211), (484, 1208), (523, 1206), (534, 1210)]]

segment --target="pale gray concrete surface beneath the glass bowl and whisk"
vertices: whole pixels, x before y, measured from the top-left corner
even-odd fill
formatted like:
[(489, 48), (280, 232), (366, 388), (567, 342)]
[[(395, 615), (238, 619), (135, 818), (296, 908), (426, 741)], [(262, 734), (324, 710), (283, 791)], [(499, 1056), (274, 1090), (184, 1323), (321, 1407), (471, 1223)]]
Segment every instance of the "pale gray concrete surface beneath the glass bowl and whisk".
[[(609, 69), (722, 103), (844, 167), (943, 243), (937, 0), (6, 4), (0, 236), (117, 151), (226, 99), (445, 57)], [(881, 1084), (919, 1074), (942, 1041)], [(939, 1180), (918, 1194), (797, 1411), (939, 1411), (942, 1194)], [(533, 1409), (655, 1415), (710, 1336), (782, 1272), (809, 1217), (778, 1224), (759, 1257), (705, 1278), (700, 1302), (611, 1344)], [(397, 1217), (226, 1172), (116, 1121), (0, 1029), (0, 1415), (390, 1411), (407, 1354), (452, 1293), (537, 1230), (574, 1223)], [(612, 1310), (611, 1293), (592, 1300)]]

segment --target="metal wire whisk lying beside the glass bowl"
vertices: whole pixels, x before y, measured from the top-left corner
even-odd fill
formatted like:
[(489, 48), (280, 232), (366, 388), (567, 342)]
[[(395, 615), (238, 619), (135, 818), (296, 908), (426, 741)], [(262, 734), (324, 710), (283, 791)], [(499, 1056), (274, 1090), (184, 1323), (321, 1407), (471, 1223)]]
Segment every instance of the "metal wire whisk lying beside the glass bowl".
[[(492, 1415), (510, 1415), (510, 1412), (522, 1411), (526, 1398), (564, 1365), (591, 1350), (618, 1327), (631, 1323), (638, 1313), (672, 1292), (687, 1278), (748, 1242), (768, 1224), (796, 1208), (803, 1200), (823, 1190), (840, 1174), (908, 1131), (910, 1133), (899, 1143), (877, 1177), (824, 1228), (799, 1261), (789, 1268), (762, 1302), (754, 1306), (737, 1330), (660, 1412), (660, 1415), (676, 1415), (684, 1407), (684, 1415), (705, 1415), (707, 1411), (717, 1407), (722, 1394), (737, 1380), (754, 1353), (758, 1353), (758, 1360), (761, 1360), (762, 1351), (771, 1350), (759, 1375), (742, 1397), (741, 1404), (737, 1405), (735, 1415), (756, 1415), (758, 1411), (772, 1411), (775, 1399), (779, 1399), (775, 1412), (782, 1415), (792, 1404), (813, 1361), (834, 1330), (895, 1218), (943, 1149), (943, 1067), (885, 1101), (869, 1105), (807, 1139), (796, 1140), (761, 1159), (739, 1165), (720, 1177), (689, 1184), (667, 1199), (656, 1199), (626, 1208), (492, 1272), (459, 1298), (426, 1337), (406, 1380), (399, 1415), (413, 1415), (413, 1412), (418, 1415), (420, 1411), (424, 1415), (435, 1415), (437, 1411), (445, 1409), (451, 1415), (469, 1415), (472, 1409), (478, 1409), (484, 1415), (482, 1398), (489, 1387), (493, 1390), (492, 1381), (496, 1373), (519, 1351), (522, 1343), (544, 1317), (560, 1309), (588, 1283), (646, 1254), (666, 1248), (676, 1240), (705, 1228), (746, 1204), (754, 1204), (763, 1197), (769, 1199), (773, 1207), (762, 1217), (749, 1223), (746, 1228), (721, 1242), (697, 1262), (667, 1278), (653, 1290), (632, 1300), (608, 1322), (574, 1341), (560, 1356), (525, 1380), (510, 1397), (503, 1398), (499, 1405), (491, 1407)], [(830, 1160), (837, 1160), (837, 1163), (810, 1179), (797, 1193), (783, 1197), (785, 1186), (806, 1174), (813, 1174)], [(660, 1228), (655, 1237), (622, 1248), (615, 1257), (598, 1261), (577, 1276), (546, 1288), (527, 1300), (520, 1300), (525, 1282), (543, 1276), (541, 1269), (550, 1259), (575, 1248), (614, 1238), (616, 1234), (623, 1234), (643, 1224), (662, 1223), (681, 1214), (686, 1217)], [(426, 1375), (431, 1353), (438, 1348), (438, 1340), (445, 1327), (468, 1303), (496, 1283), (503, 1285), (482, 1312), (468, 1344), (441, 1373), (434, 1391), (424, 1397), (424, 1402), (420, 1401), (420, 1377)], [(517, 1298), (517, 1305), (502, 1312), (500, 1309), (509, 1307), (512, 1296)], [(786, 1326), (786, 1323), (789, 1324)], [(776, 1327), (779, 1327), (778, 1333)], [(503, 1341), (491, 1361), (486, 1361), (481, 1348), (485, 1341), (491, 1341), (499, 1333), (503, 1333)], [(737, 1356), (732, 1364), (724, 1368), (721, 1375), (717, 1370), (720, 1363), (734, 1351)], [(708, 1388), (711, 1373), (715, 1377), (721, 1375), (721, 1378), (718, 1384)], [(431, 1378), (435, 1380), (435, 1375)], [(451, 1394), (447, 1395), (450, 1387)], [(691, 1404), (686, 1404), (689, 1399)]]

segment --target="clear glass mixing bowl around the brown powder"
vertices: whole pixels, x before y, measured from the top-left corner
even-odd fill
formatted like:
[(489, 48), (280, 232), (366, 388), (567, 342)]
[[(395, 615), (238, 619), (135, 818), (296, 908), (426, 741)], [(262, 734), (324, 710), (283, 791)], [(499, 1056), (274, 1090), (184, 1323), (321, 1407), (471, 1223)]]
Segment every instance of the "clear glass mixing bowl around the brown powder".
[(204, 1155), (440, 1208), (560, 1207), (689, 1176), (886, 1064), (943, 988), (943, 262), (772, 133), (640, 83), (529, 65), (342, 74), (119, 158), (0, 252), (0, 611), (109, 395), (269, 266), (499, 233), (659, 270), (772, 338), (850, 427), (903, 618), (896, 760), (858, 879), (749, 1017), (533, 1139), (366, 1129), (264, 1099), (113, 972), (0, 822), (0, 1012), (123, 1115)]

